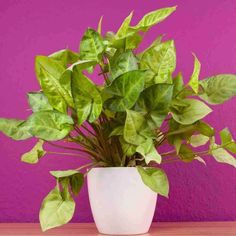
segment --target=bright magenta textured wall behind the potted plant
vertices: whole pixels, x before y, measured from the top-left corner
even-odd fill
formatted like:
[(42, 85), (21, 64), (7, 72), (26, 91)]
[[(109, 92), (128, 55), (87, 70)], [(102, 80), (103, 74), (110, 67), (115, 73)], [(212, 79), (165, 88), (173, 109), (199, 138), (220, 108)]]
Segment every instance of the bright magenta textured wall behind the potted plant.
[[(135, 10), (134, 22), (148, 11), (178, 5), (177, 12), (154, 27), (142, 46), (157, 35), (174, 38), (178, 70), (186, 78), (193, 67), (191, 52), (202, 63), (201, 78), (236, 73), (236, 1), (72, 1), (0, 0), (0, 117), (26, 118), (26, 92), (37, 90), (34, 57), (69, 47), (76, 50), (87, 26), (97, 27), (104, 15), (104, 30), (116, 30)], [(236, 133), (236, 99), (214, 107), (208, 121), (217, 130), (228, 126)], [(27, 165), (20, 155), (33, 141), (14, 142), (0, 134), (0, 222), (35, 222), (43, 197), (54, 187), (49, 170), (78, 167), (71, 157), (48, 156)], [(164, 166), (170, 180), (169, 199), (158, 199), (154, 220), (236, 220), (236, 171), (211, 158), (207, 167), (192, 164)], [(87, 189), (78, 200), (74, 221), (92, 221)]]

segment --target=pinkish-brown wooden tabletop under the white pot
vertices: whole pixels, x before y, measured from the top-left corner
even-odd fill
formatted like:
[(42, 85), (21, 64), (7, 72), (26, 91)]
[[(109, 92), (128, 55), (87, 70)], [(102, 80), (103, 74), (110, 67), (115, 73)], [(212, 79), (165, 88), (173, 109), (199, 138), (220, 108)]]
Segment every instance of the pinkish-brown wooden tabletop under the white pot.
[[(94, 224), (68, 224), (42, 233), (39, 224), (0, 224), (0, 236), (94, 236), (101, 235)], [(235, 222), (179, 222), (179, 223), (153, 223), (146, 236), (236, 236)]]

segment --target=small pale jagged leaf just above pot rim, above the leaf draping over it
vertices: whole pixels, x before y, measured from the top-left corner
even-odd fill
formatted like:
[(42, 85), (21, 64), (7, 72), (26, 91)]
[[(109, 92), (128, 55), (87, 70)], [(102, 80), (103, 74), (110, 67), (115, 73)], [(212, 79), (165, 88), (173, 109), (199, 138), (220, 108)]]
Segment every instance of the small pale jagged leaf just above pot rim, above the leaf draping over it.
[(150, 138), (140, 144), (136, 151), (145, 158), (146, 164), (149, 164), (151, 161), (155, 161), (158, 164), (161, 163), (161, 155), (157, 152), (153, 141)]

